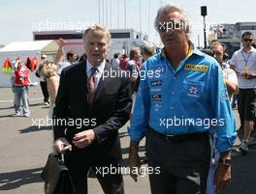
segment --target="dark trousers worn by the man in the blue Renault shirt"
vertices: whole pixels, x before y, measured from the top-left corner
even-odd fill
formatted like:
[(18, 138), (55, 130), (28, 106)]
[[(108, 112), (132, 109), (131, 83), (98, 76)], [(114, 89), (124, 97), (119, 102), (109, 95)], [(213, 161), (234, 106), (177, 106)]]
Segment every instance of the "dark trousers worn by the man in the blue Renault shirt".
[(172, 142), (149, 130), (146, 135), (152, 194), (204, 194), (207, 189), (210, 147), (208, 134)]

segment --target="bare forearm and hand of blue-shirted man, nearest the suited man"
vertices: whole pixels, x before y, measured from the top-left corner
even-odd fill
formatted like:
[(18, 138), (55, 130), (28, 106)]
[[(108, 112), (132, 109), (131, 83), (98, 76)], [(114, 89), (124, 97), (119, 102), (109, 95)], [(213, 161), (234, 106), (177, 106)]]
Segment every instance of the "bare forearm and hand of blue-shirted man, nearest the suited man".
[(130, 152), (129, 152), (130, 176), (135, 181), (137, 181), (137, 178), (140, 174), (140, 168), (141, 168), (141, 160), (138, 154), (138, 148), (139, 148), (138, 142), (130, 143)]

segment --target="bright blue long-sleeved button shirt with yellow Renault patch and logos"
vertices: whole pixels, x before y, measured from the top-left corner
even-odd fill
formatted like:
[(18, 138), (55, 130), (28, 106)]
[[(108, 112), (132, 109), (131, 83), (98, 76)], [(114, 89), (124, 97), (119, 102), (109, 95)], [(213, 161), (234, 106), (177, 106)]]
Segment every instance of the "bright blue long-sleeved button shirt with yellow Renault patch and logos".
[(161, 53), (149, 58), (141, 71), (141, 83), (132, 123), (132, 141), (141, 141), (148, 126), (169, 135), (216, 132), (219, 152), (232, 149), (237, 133), (222, 70), (212, 57), (190, 45), (177, 69)]

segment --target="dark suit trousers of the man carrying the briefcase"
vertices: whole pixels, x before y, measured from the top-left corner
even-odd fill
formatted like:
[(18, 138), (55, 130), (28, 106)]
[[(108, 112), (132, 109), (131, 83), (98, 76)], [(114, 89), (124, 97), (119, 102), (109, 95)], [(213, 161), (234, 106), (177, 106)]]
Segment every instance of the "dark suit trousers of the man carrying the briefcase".
[(77, 194), (87, 194), (87, 174), (90, 168), (99, 180), (105, 194), (124, 194), (122, 175), (114, 173), (114, 171), (111, 172), (111, 168), (117, 169), (119, 163), (104, 162), (95, 165), (95, 163), (86, 162), (86, 159), (83, 158), (72, 152), (65, 155), (65, 164), (70, 171)]

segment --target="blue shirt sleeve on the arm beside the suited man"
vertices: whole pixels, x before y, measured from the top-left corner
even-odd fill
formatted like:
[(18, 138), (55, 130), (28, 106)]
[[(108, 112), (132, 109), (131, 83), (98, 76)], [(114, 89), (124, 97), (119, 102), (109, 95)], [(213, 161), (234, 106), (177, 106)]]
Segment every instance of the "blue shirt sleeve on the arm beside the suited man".
[[(146, 72), (146, 66), (142, 71)], [(145, 131), (148, 129), (148, 118), (149, 118), (149, 109), (150, 109), (150, 97), (148, 92), (148, 85), (146, 81), (146, 76), (141, 77), (139, 90), (137, 93), (135, 108), (132, 117), (131, 126), (128, 127), (128, 132), (131, 137), (131, 141), (140, 142), (145, 134)]]

